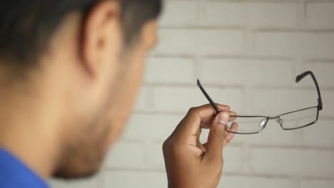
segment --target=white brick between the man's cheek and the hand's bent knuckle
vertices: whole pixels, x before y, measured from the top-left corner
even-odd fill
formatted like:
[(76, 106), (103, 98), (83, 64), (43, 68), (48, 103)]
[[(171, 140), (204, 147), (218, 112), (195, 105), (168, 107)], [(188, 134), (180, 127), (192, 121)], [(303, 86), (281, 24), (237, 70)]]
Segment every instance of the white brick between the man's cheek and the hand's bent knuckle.
[(183, 119), (183, 115), (135, 114), (128, 122), (122, 140), (163, 142)]

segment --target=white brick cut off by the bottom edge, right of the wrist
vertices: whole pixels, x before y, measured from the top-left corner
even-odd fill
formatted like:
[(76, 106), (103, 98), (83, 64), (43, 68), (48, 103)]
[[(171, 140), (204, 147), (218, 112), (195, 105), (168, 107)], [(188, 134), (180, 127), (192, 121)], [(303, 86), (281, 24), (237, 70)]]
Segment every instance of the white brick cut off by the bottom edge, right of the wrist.
[(240, 188), (253, 186), (256, 186), (258, 188), (293, 187), (288, 179), (283, 178), (238, 177), (226, 176), (224, 174), (221, 182), (218, 184), (218, 188)]

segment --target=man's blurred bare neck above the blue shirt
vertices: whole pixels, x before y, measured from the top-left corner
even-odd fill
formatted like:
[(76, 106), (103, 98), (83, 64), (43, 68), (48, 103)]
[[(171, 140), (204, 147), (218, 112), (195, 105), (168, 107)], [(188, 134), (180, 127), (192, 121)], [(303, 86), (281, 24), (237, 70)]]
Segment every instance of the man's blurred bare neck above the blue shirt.
[[(9, 150), (43, 179), (56, 165), (58, 131), (46, 93), (11, 87), (0, 95), (0, 147)], [(43, 87), (40, 87), (43, 88)], [(39, 105), (41, 104), (41, 105)]]

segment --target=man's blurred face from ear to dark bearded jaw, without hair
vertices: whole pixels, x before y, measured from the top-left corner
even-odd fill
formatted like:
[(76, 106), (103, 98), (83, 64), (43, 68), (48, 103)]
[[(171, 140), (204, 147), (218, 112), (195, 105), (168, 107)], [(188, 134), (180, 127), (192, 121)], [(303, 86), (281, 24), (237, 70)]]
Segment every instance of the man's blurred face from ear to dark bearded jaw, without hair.
[[(145, 23), (138, 40), (125, 47), (118, 16), (110, 17), (112, 12), (116, 15), (118, 6), (106, 1), (96, 9), (98, 15), (94, 17), (93, 11), (87, 21), (83, 61), (78, 59), (83, 64), (78, 70), (85, 70), (78, 72), (82, 86), (72, 90), (74, 93), (80, 90), (72, 99), (79, 105), (67, 110), (62, 121), (67, 130), (55, 177), (85, 177), (98, 171), (131, 115), (146, 55), (156, 44), (156, 20)], [(98, 26), (106, 27), (106, 31)], [(76, 73), (71, 75), (74, 78)]]

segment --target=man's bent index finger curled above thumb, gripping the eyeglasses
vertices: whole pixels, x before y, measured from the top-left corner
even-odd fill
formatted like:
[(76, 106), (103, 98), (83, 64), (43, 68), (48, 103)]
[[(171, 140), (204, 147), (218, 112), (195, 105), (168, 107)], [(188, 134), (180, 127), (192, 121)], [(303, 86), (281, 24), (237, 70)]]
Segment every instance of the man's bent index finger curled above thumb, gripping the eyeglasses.
[[(222, 111), (230, 111), (228, 105), (218, 105)], [(196, 135), (201, 124), (211, 123), (213, 117), (217, 114), (211, 104), (203, 105), (197, 108), (191, 108), (186, 117), (178, 125), (178, 133), (181, 135)]]

